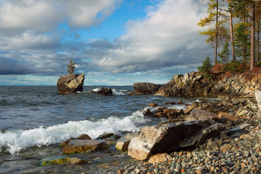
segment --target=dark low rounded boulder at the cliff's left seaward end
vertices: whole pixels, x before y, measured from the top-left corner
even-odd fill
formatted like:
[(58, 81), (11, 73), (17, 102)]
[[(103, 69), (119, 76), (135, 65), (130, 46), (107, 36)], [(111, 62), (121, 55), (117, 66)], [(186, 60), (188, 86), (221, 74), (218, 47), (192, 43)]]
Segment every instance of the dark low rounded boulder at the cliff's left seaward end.
[(153, 83), (133, 83), (135, 91), (143, 94), (155, 94), (162, 85), (156, 85)]

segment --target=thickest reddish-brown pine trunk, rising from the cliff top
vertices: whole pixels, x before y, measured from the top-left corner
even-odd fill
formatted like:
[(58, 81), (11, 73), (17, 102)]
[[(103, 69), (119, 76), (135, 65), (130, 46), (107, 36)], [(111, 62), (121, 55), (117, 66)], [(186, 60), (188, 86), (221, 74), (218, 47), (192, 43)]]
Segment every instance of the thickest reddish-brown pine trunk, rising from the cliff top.
[(255, 3), (251, 4), (251, 48), (250, 48), (250, 70), (255, 66)]

